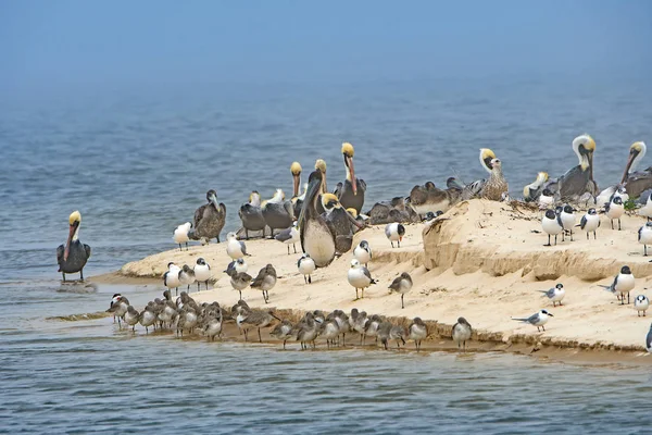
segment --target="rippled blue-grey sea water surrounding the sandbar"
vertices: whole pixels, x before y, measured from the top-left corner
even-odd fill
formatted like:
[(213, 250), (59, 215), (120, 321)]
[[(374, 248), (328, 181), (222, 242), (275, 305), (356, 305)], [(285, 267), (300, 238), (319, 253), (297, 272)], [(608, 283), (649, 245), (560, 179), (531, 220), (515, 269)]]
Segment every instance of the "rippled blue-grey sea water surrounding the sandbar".
[(606, 185), (619, 178), (632, 141), (652, 140), (651, 89), (550, 78), (3, 99), (0, 432), (643, 433), (648, 413), (636, 412), (652, 381), (635, 369), (503, 355), (283, 352), (133, 336), (108, 319), (47, 318), (104, 310), (116, 289), (137, 306), (160, 291), (60, 291), (54, 250), (75, 209), (93, 249), (91, 276), (172, 248), (172, 231), (209, 188), (226, 203), (230, 229), (250, 190), (290, 195), (293, 160), (306, 179), (324, 158), (335, 186), (344, 177), (343, 140), (355, 146), (367, 206), (429, 179), (484, 177), (481, 147), (503, 160), (518, 194), (538, 171), (560, 175), (577, 164), (569, 144), (585, 132), (598, 142), (595, 175)]

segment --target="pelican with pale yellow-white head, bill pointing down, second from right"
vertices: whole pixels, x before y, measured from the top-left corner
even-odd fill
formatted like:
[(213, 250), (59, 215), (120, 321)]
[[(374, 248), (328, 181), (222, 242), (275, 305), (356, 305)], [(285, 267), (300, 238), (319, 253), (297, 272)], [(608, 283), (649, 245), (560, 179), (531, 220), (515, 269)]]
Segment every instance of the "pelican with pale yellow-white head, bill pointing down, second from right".
[(593, 152), (595, 141), (587, 134), (573, 140), (573, 151), (579, 164), (568, 170), (556, 181), (551, 181), (546, 187), (562, 201), (575, 200), (584, 194), (598, 195), (598, 184), (593, 179)]

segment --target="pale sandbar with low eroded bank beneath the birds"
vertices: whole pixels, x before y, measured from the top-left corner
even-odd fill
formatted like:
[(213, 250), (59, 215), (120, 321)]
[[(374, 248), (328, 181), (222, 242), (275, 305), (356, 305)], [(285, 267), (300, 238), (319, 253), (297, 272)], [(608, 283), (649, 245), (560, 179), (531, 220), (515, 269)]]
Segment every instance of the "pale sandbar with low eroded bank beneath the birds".
[[(248, 273), (255, 276), (261, 268), (272, 263), (280, 278), (269, 293), (268, 304), (260, 291), (252, 289), (243, 291), (243, 299), (252, 307), (274, 307), (296, 315), (304, 310), (348, 312), (358, 308), (404, 322), (421, 316), (429, 321), (430, 345), (440, 343), (444, 347), (451, 345), (451, 325), (459, 316), (465, 316), (474, 326), (477, 348), (537, 351), (552, 357), (563, 349), (566, 359), (590, 353), (609, 361), (609, 355), (618, 355), (619, 360), (652, 363), (644, 349), (652, 310), (649, 316), (639, 318), (634, 309), (637, 295), (652, 297), (648, 289), (652, 263), (637, 243), (637, 231), (644, 220), (624, 216), (623, 231), (612, 231), (607, 219), (601, 219), (598, 239), (587, 240), (586, 234), (577, 233), (574, 241), (566, 238), (562, 243), (560, 237), (553, 247), (543, 246), (548, 238), (541, 233), (540, 212), (516, 201), (461, 202), (429, 226), (406, 225), (400, 248), (391, 248), (384, 226), (368, 227), (356, 234), (354, 241), (369, 243), (374, 259), (368, 269), (378, 284), (360, 300), (354, 300), (355, 291), (347, 282), (351, 252), (317, 270), (313, 283), (306, 285), (297, 271), (300, 244), (298, 253), (288, 256), (287, 247), (276, 240), (249, 240)], [(125, 264), (93, 281), (161, 282), (170, 261), (195, 264), (199, 257), (211, 264), (214, 282), (210, 290), (193, 289), (191, 296), (198, 301), (234, 304), (238, 293), (222, 272), (229, 262), (224, 244), (195, 246), (188, 251), (172, 249)], [(615, 296), (599, 285), (611, 284), (625, 264), (631, 268), (637, 286), (631, 293), (632, 303), (620, 306)], [(401, 272), (409, 272), (414, 279), (404, 309), (400, 295), (388, 290)], [(552, 308), (552, 302), (537, 290), (556, 283), (564, 284), (566, 297), (563, 307)], [(544, 333), (511, 319), (528, 316), (542, 308), (554, 315)]]

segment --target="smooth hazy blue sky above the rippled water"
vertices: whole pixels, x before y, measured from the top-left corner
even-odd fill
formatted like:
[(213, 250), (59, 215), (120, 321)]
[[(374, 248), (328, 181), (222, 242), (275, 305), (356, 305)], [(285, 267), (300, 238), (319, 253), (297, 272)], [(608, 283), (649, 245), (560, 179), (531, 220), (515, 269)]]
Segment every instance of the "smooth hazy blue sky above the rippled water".
[(0, 86), (644, 72), (652, 1), (0, 0)]

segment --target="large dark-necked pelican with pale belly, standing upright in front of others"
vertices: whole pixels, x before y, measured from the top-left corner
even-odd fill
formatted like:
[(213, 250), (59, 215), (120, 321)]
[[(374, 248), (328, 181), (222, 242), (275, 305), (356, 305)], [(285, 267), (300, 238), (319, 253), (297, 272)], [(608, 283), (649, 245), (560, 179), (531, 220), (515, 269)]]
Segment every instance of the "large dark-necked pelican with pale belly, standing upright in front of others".
[(335, 258), (335, 228), (316, 209), (323, 177), (324, 174), (319, 170), (310, 174), (305, 203), (299, 215), (301, 248), (310, 254), (317, 268), (327, 266)]

